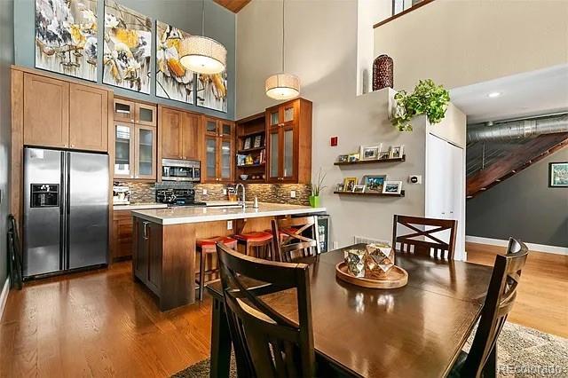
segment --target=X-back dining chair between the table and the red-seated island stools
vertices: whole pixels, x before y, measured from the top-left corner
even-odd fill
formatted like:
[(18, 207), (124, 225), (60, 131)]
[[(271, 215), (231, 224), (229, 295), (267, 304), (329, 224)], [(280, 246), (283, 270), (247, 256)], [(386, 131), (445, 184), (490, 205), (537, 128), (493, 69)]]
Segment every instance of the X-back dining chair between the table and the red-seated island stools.
[[(304, 236), (311, 229), (314, 239)], [(317, 256), (319, 245), (318, 217), (297, 217), (272, 219), (272, 244), (280, 261), (293, 263), (296, 259)]]

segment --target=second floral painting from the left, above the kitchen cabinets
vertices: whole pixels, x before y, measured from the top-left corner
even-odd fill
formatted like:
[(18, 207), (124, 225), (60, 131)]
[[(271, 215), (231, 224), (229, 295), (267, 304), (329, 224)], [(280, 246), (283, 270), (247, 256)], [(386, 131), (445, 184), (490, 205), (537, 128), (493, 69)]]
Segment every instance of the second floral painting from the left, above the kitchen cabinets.
[(151, 55), (152, 20), (106, 0), (103, 83), (149, 94)]

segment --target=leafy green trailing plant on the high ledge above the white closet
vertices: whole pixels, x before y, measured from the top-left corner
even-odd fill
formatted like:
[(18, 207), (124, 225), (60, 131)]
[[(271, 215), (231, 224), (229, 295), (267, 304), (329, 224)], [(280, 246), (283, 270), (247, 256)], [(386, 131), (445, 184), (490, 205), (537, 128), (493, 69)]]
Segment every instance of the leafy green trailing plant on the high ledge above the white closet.
[(397, 101), (392, 114), (392, 125), (398, 131), (412, 131), (410, 121), (417, 115), (426, 114), (431, 124), (441, 122), (446, 116), (450, 102), (450, 92), (443, 85), (437, 85), (431, 79), (418, 82), (411, 94), (399, 91), (394, 95)]

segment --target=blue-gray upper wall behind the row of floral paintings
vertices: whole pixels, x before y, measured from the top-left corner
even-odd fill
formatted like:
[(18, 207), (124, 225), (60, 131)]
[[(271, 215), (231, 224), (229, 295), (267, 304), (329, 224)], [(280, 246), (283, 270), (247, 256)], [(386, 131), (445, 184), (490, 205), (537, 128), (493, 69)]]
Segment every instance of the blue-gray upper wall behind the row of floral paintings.
[[(4, 0), (0, 0), (4, 2)], [(160, 20), (185, 30), (194, 35), (201, 35), (201, 1), (199, 0), (118, 0), (137, 12), (145, 14), (153, 20), (153, 35), (155, 38), (155, 20)], [(15, 34), (15, 62), (24, 67), (35, 67), (35, 33), (34, 16), (35, 0), (18, 0), (14, 7)], [(99, 41), (102, 41), (104, 0), (99, 0)], [(227, 49), (228, 98), (227, 113), (217, 112), (200, 106), (187, 105), (182, 102), (170, 101), (166, 98), (155, 97), (155, 80), (151, 81), (150, 95), (129, 91), (122, 88), (111, 87), (114, 93), (128, 98), (177, 106), (200, 113), (211, 114), (225, 119), (234, 119), (235, 112), (235, 25), (236, 17), (212, 0), (205, 0), (205, 35), (217, 39)], [(99, 43), (99, 79), (102, 83), (102, 43)], [(155, 72), (155, 39), (152, 43), (152, 72)]]

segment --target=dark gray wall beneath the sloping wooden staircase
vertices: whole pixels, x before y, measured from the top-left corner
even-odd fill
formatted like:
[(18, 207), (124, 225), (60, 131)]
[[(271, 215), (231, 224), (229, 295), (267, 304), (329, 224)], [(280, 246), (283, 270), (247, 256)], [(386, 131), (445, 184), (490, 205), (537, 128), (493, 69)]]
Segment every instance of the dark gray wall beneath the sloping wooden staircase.
[(467, 235), (568, 247), (568, 188), (548, 187), (553, 161), (568, 161), (568, 148), (469, 200)]

